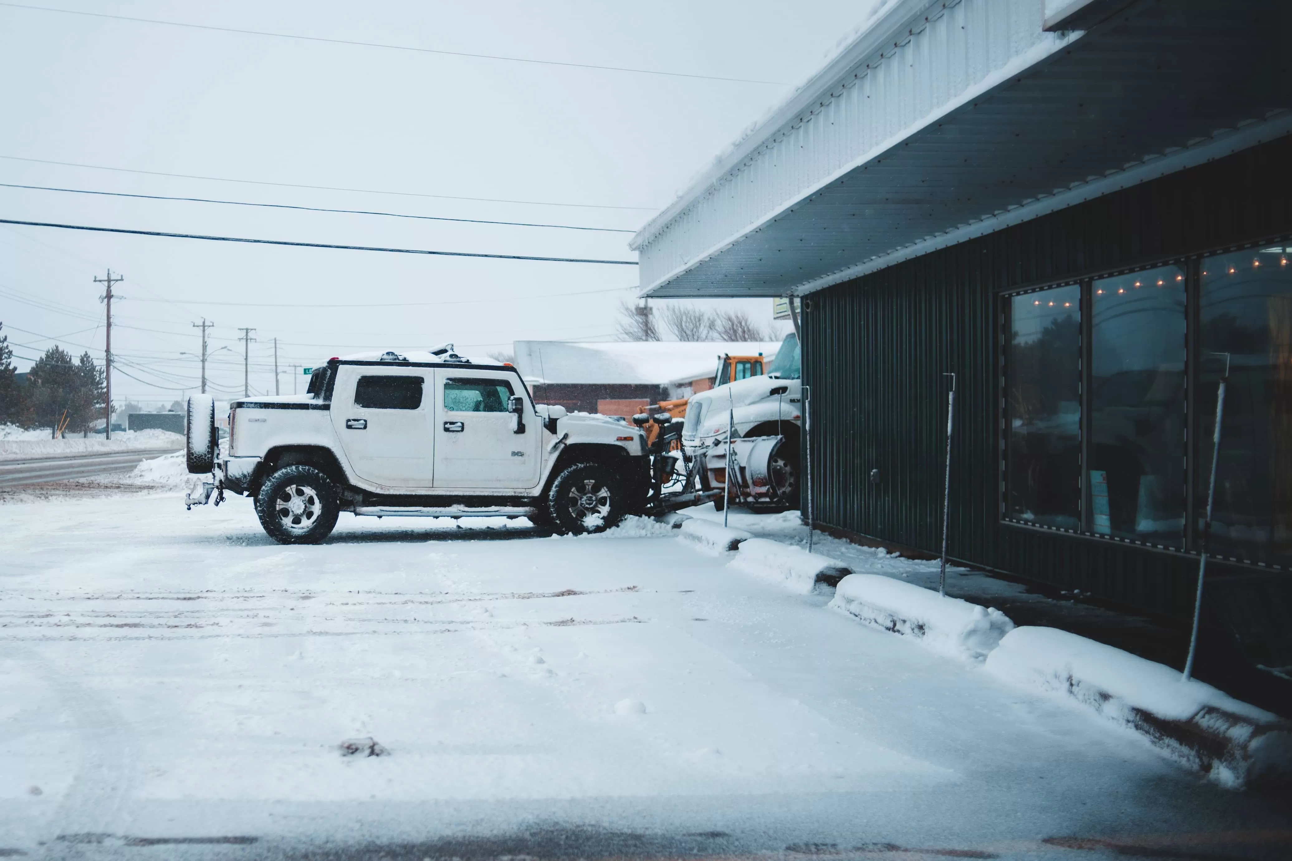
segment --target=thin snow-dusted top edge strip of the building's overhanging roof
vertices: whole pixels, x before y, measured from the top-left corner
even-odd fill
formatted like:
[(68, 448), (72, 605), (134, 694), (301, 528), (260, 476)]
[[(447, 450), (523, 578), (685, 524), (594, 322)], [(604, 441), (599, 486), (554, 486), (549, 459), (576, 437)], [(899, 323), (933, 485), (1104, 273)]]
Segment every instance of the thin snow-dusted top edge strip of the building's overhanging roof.
[(690, 187), (686, 188), (673, 203), (665, 207), (658, 216), (651, 218), (637, 231), (628, 248), (637, 250), (652, 240), (674, 217), (690, 207), (695, 200), (712, 188), (720, 179), (740, 167), (740, 163), (751, 152), (764, 146), (769, 139), (793, 125), (801, 119), (804, 111), (819, 103), (823, 96), (831, 90), (854, 68), (860, 66), (876, 53), (884, 50), (888, 43), (895, 36), (907, 36), (912, 31), (912, 23), (932, 6), (950, 8), (957, 5), (960, 0), (899, 0), (891, 8), (882, 12), (870, 27), (857, 35), (853, 43), (839, 52), (839, 54), (826, 63), (817, 74), (809, 77), (798, 89), (791, 93), (780, 107), (775, 108), (766, 120), (760, 123), (745, 138), (738, 142), (730, 152), (720, 156), (716, 163), (704, 170)]

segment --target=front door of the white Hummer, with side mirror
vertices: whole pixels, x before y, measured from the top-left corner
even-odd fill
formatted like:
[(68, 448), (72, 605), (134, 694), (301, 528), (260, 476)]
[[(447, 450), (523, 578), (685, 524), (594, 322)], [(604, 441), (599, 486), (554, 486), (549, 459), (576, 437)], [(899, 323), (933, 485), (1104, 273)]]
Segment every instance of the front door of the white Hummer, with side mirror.
[[(539, 483), (541, 426), (516, 374), (473, 370), (435, 372), (435, 487), (500, 491)], [(509, 412), (513, 395), (525, 398), (519, 421)]]

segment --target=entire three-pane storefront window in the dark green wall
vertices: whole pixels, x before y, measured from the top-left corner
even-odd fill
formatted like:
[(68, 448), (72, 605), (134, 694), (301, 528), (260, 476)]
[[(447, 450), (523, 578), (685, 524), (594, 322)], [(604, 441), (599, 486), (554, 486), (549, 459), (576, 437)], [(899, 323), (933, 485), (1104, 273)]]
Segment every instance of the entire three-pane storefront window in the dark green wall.
[(1001, 514), (1196, 552), (1216, 389), (1217, 556), (1292, 565), (1292, 244), (1004, 298)]

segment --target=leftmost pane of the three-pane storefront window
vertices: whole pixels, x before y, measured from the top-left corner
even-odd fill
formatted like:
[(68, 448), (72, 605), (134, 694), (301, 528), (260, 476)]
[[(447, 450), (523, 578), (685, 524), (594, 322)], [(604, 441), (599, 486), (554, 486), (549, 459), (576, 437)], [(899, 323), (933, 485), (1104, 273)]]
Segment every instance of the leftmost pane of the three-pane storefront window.
[(1010, 298), (1005, 345), (1006, 516), (1080, 528), (1081, 288)]

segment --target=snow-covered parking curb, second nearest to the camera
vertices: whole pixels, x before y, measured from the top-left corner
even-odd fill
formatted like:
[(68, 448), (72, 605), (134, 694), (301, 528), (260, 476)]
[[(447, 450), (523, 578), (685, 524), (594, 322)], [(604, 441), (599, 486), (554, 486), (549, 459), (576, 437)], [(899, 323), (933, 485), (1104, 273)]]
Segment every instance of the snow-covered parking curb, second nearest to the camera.
[(845, 577), (829, 605), (867, 625), (919, 640), (934, 652), (968, 661), (983, 661), (1014, 627), (999, 609), (944, 598), (881, 574)]

